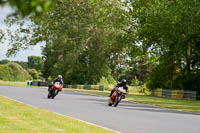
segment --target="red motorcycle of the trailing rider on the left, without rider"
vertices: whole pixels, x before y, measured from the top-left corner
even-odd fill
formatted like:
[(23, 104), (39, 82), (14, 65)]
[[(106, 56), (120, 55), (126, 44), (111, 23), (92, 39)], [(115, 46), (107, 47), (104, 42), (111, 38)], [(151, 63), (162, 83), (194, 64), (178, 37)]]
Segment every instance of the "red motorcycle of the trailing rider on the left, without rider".
[(49, 93), (48, 93), (48, 98), (54, 99), (56, 95), (58, 95), (58, 92), (62, 90), (62, 85), (60, 82), (55, 82), (53, 86), (50, 88)]

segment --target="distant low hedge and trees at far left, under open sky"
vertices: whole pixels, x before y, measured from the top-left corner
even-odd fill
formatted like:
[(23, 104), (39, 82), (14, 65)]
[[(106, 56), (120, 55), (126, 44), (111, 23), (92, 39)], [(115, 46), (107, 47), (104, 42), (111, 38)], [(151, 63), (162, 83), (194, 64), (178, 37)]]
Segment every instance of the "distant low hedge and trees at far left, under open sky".
[(28, 56), (28, 62), (0, 60), (0, 80), (25, 81), (43, 80), (44, 61), (40, 56)]

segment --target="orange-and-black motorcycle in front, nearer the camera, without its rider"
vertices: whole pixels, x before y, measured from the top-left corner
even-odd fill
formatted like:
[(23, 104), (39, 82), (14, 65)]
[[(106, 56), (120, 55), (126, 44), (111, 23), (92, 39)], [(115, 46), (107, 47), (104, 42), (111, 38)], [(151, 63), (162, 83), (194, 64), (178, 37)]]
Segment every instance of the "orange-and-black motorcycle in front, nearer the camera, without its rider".
[(119, 102), (125, 98), (126, 91), (122, 88), (117, 88), (113, 92), (112, 96), (108, 99), (108, 106), (117, 107)]

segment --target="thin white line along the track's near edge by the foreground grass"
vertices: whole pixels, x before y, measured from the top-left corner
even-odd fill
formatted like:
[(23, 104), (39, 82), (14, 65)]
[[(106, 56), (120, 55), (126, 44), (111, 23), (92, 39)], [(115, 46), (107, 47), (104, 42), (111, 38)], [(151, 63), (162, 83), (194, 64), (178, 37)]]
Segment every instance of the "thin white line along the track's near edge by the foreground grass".
[[(0, 95), (0, 96), (2, 96), (2, 95)], [(18, 100), (9, 98), (9, 97), (7, 97), (7, 96), (2, 96), (2, 97), (5, 97), (5, 98), (7, 98), (7, 99), (10, 99), (10, 100), (12, 100), (12, 101), (15, 101), (15, 102), (18, 102), (18, 103), (21, 103), (21, 104), (25, 104), (25, 105), (30, 106), (30, 107), (33, 107), (33, 108), (41, 109), (41, 108), (39, 108), (39, 107), (30, 105), (30, 104), (27, 104), (27, 103), (23, 103), (23, 102), (21, 102), (21, 101), (18, 101)], [(44, 109), (44, 110), (47, 110), (47, 109)], [(49, 110), (48, 110), (48, 111), (49, 111)], [(53, 111), (50, 111), (50, 112), (53, 112)], [(74, 118), (74, 117), (71, 117), (71, 116), (63, 115), (63, 114), (60, 114), (60, 113), (57, 113), (57, 112), (53, 112), (53, 113), (55, 113), (55, 114), (57, 114), (57, 115), (64, 116), (64, 117), (69, 117), (69, 118), (71, 118), (71, 119), (74, 119), (74, 120), (78, 120), (78, 121), (87, 123), (87, 124), (89, 124), (89, 125), (93, 125), (93, 126), (96, 126), (96, 127), (104, 128), (104, 129), (107, 129), (107, 130), (110, 130), (110, 131), (113, 131), (113, 132), (116, 132), (116, 133), (121, 133), (121, 132), (119, 132), (119, 131), (115, 131), (115, 130), (110, 129), (110, 128), (107, 128), (107, 127), (99, 126), (99, 125), (96, 125), (96, 124), (94, 124), (94, 123), (90, 123), (90, 122), (88, 122), (88, 121), (84, 121), (84, 120), (77, 119), (77, 118)]]

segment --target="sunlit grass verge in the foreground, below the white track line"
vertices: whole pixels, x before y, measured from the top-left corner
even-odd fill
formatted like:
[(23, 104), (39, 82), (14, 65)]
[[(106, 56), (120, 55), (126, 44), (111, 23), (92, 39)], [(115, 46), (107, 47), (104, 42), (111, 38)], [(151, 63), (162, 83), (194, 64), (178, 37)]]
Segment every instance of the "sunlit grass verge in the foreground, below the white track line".
[(111, 133), (69, 117), (0, 96), (1, 133)]

